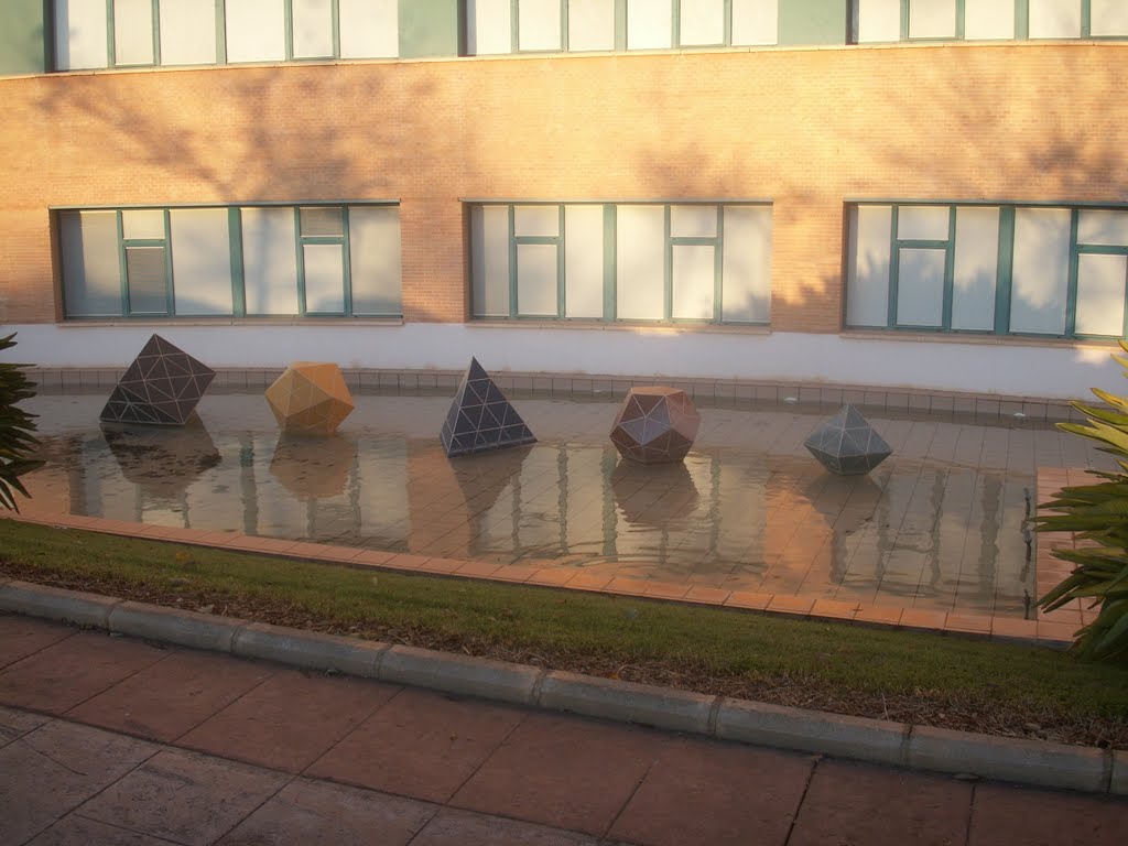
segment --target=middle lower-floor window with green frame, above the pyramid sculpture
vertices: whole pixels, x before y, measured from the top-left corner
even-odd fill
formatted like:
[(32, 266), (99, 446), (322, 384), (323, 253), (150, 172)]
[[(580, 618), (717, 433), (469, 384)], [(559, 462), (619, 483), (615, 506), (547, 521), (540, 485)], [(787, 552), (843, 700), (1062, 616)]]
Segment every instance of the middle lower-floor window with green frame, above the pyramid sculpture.
[(768, 321), (770, 205), (483, 204), (469, 217), (474, 317)]

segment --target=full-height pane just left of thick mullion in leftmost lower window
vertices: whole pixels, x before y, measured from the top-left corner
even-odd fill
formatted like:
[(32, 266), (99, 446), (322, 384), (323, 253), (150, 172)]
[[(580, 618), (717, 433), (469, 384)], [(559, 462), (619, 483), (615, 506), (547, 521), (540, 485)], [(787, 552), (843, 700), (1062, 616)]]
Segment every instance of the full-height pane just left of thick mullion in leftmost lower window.
[(231, 239), (227, 209), (174, 209), (173, 293), (178, 315), (231, 314)]

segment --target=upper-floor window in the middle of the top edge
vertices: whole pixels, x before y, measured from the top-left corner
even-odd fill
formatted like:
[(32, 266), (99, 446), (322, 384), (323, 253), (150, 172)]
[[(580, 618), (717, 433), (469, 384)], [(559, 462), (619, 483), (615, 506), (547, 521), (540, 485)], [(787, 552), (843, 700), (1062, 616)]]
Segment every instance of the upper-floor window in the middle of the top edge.
[(777, 8), (778, 0), (469, 0), (467, 52), (775, 44)]

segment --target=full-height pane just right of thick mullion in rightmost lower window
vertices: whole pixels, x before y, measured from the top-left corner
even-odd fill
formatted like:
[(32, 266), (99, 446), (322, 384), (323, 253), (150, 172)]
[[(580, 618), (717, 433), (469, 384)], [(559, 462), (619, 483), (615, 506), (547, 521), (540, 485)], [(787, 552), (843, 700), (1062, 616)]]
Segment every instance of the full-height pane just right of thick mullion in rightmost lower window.
[(1065, 333), (1069, 218), (1065, 209), (1015, 211), (1011, 332)]

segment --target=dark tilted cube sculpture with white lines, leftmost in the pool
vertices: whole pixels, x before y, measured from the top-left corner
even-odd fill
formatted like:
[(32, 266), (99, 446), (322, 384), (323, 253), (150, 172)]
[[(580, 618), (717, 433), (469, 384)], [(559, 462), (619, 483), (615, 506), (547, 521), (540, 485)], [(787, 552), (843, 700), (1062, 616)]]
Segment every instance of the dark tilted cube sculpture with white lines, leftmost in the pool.
[(214, 378), (206, 364), (153, 335), (118, 380), (100, 418), (184, 425)]

